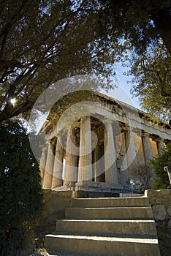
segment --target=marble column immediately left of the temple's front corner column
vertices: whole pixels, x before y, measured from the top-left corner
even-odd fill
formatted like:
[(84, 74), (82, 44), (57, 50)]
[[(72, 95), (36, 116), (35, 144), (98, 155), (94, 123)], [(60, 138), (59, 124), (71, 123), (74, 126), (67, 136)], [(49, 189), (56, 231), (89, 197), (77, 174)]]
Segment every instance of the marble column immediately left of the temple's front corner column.
[(74, 186), (77, 181), (77, 148), (75, 131), (71, 127), (67, 133), (64, 184)]

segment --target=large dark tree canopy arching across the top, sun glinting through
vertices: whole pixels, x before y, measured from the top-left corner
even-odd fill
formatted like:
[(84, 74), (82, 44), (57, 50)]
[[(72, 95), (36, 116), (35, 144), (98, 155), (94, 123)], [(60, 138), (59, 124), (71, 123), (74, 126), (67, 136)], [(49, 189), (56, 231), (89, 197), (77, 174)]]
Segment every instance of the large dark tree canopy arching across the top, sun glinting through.
[(0, 120), (28, 113), (61, 78), (110, 78), (127, 50), (149, 54), (162, 38), (171, 52), (170, 6), (170, 0), (1, 1)]

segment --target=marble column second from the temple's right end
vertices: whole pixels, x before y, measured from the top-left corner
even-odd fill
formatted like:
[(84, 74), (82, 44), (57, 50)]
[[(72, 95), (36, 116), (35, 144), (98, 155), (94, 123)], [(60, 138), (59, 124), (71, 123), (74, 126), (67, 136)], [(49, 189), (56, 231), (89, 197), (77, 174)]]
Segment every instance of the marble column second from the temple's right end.
[(149, 133), (142, 132), (141, 136), (142, 136), (142, 147), (144, 152), (145, 165), (148, 165), (149, 160), (153, 158)]

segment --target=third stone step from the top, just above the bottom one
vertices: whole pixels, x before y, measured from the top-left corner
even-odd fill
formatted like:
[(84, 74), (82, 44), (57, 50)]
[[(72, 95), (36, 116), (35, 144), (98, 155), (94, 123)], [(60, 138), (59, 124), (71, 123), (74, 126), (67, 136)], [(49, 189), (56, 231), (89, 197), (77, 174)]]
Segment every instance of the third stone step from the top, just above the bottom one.
[(59, 219), (56, 231), (73, 235), (157, 238), (153, 220)]

